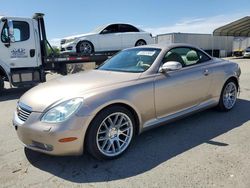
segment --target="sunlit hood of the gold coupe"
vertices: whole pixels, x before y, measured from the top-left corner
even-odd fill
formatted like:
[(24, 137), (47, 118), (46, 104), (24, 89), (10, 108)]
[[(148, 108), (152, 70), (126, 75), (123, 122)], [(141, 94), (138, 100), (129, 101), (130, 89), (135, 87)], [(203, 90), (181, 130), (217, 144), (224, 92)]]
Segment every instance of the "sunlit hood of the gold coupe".
[(136, 80), (139, 76), (140, 73), (86, 71), (39, 84), (27, 91), (19, 101), (31, 107), (32, 111), (43, 112), (47, 107), (60, 100), (83, 97), (84, 93), (92, 89)]

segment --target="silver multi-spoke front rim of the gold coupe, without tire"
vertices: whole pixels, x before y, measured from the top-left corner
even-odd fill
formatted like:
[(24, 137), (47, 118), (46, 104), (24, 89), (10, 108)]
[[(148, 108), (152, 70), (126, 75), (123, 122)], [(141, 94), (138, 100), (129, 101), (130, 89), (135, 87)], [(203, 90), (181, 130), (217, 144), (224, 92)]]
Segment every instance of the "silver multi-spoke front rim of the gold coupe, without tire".
[(106, 117), (99, 126), (97, 147), (106, 156), (117, 156), (129, 146), (132, 137), (131, 119), (125, 113), (116, 112)]

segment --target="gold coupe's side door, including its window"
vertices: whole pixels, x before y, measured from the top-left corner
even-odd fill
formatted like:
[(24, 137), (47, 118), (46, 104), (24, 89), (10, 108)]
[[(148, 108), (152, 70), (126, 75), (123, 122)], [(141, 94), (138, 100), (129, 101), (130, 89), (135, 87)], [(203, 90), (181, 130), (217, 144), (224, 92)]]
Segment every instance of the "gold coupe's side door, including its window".
[(156, 76), (157, 118), (195, 107), (209, 99), (212, 79), (207, 64), (211, 59), (206, 54), (190, 48), (174, 48), (163, 59), (163, 63), (168, 61), (178, 61), (183, 68)]

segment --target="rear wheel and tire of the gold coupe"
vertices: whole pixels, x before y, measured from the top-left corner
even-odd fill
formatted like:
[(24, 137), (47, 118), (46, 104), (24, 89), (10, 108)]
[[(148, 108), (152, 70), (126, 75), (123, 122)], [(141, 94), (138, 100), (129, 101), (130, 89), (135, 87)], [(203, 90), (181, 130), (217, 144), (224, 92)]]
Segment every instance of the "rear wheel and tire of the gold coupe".
[(221, 111), (231, 110), (237, 100), (238, 87), (234, 80), (228, 80), (222, 89), (218, 109)]

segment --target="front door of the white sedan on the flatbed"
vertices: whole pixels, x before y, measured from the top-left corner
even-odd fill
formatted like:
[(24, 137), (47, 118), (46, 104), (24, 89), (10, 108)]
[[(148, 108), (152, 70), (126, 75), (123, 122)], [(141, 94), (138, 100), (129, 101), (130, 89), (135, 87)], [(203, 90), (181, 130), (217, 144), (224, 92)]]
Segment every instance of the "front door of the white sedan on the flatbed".
[(122, 49), (121, 33), (118, 24), (112, 24), (99, 34), (100, 51), (118, 51)]

